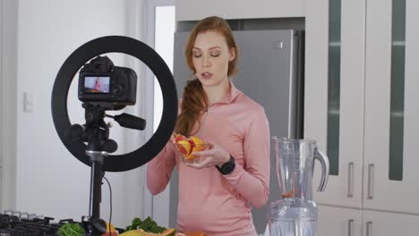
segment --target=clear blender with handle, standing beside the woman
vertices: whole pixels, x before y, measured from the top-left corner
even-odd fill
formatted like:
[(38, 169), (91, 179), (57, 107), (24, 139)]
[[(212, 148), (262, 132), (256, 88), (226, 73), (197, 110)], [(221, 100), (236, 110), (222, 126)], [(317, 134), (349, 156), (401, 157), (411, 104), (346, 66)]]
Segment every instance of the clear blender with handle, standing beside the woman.
[(272, 202), (268, 222), (270, 236), (314, 236), (318, 209), (312, 199), (314, 160), (321, 163), (321, 184), (329, 179), (329, 159), (308, 139), (272, 137), (279, 190), (282, 199)]

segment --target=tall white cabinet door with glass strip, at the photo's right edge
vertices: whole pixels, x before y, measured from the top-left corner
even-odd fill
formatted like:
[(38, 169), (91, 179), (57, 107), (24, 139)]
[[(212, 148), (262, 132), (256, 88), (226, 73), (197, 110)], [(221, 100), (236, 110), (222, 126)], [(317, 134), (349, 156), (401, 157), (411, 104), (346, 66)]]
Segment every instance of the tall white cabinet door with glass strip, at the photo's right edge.
[(416, 215), (418, 8), (415, 0), (368, 1), (363, 156), (363, 207)]

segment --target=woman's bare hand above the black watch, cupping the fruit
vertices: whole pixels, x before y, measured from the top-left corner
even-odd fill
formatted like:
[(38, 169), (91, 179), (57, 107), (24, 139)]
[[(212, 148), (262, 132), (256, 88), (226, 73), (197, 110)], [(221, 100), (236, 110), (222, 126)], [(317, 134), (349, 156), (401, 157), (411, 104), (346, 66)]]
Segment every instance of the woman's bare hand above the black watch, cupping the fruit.
[(200, 163), (186, 164), (196, 169), (214, 167), (215, 165), (221, 167), (222, 164), (225, 164), (230, 160), (230, 154), (216, 144), (209, 144), (208, 150), (194, 152), (193, 155), (205, 157), (205, 159)]

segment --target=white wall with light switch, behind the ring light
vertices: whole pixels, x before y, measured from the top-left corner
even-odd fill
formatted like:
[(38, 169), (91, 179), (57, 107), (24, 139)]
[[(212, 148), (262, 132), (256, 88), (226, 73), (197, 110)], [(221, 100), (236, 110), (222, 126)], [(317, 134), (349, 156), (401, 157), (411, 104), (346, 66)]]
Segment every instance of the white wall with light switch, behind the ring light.
[[(58, 139), (52, 121), (51, 91), (64, 60), (82, 44), (107, 35), (141, 39), (141, 24), (133, 22), (141, 19), (138, 15), (141, 5), (136, 0), (19, 1), (16, 209), (78, 221), (81, 215), (89, 214), (90, 167), (73, 157)], [(115, 62), (126, 61), (116, 56)], [(137, 74), (141, 84), (141, 72)], [(73, 86), (69, 115), (72, 122), (81, 122), (83, 110), (75, 91)], [(32, 113), (23, 110), (24, 93), (33, 97)], [(138, 104), (131, 110), (141, 113)], [(120, 152), (141, 146), (141, 143), (121, 145), (127, 135), (117, 131), (119, 125), (114, 126), (111, 134), (120, 144)], [(141, 136), (136, 139), (141, 142)], [(112, 222), (117, 227), (125, 227), (134, 216), (143, 214), (143, 170), (106, 176), (113, 190)], [(101, 209), (102, 218), (107, 220), (106, 184), (102, 187)]]

